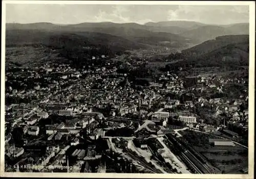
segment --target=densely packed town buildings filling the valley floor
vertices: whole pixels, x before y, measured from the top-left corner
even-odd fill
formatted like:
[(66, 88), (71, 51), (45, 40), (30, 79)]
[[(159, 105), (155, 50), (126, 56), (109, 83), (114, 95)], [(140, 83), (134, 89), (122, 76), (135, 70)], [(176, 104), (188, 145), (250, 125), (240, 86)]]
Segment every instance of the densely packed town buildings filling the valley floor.
[[(97, 63), (100, 56), (90, 59)], [(126, 67), (137, 69), (132, 63), (122, 65), (122, 69)], [(246, 105), (241, 108), (242, 104), (248, 103), (248, 95), (224, 95), (228, 93), (226, 84), (231, 83), (231, 79), (217, 76), (212, 80), (212, 76), (196, 76), (198, 85), (187, 87), (182, 70), (180, 73), (156, 74), (154, 81), (142, 87), (141, 84), (135, 85), (136, 78), (127, 80), (129, 75), (121, 73), (115, 62), (106, 59), (100, 65), (81, 69), (67, 64), (42, 64), (34, 71), (44, 83), (36, 85), (30, 85), (26, 79), (37, 79), (35, 76), (38, 75), (27, 74), (26, 69), (18, 74), (7, 73), (10, 82), (20, 76), (24, 78), (18, 82), (19, 88), (7, 88), (5, 129), (8, 134), (5, 143), (9, 147), (6, 149), (13, 148), (10, 147), (13, 145), (13, 129), (25, 135), (20, 135), (22, 147), (6, 150), (6, 155), (15, 160), (24, 159), (18, 161), (20, 163), (79, 168), (65, 172), (80, 172), (83, 167), (83, 172), (106, 172), (114, 169), (108, 162), (106, 167), (102, 166), (105, 163), (103, 154), (111, 156), (114, 152), (117, 156), (123, 153), (122, 150), (130, 151), (133, 143), (139, 151), (162, 154), (165, 147), (158, 139), (177, 134), (174, 129), (188, 129), (189, 126), (190, 130), (208, 133), (218, 129), (232, 140), (240, 134), (230, 132), (231, 127), (229, 131), (225, 130), (228, 124), (239, 130), (248, 130), (248, 108)], [(239, 80), (243, 84), (244, 80)], [(217, 96), (219, 93), (223, 96)], [(24, 101), (26, 103), (22, 103)], [(109, 131), (112, 136), (108, 136)], [(209, 143), (217, 149), (236, 147), (230, 141)], [(53, 144), (56, 146), (45, 149)], [(38, 151), (43, 155), (38, 157)], [(28, 155), (29, 160), (26, 159)], [(113, 156), (110, 158), (112, 161)], [(124, 155), (118, 160), (113, 159), (113, 163), (122, 159), (126, 160)], [(97, 164), (91, 165), (97, 161), (101, 163), (98, 170), (94, 169)]]

